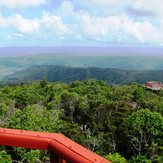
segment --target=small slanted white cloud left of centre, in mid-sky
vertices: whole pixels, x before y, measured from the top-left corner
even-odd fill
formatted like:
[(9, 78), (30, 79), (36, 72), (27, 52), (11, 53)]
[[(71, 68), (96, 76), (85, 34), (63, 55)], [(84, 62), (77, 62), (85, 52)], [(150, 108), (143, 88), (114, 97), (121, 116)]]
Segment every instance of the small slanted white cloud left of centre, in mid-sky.
[(53, 33), (65, 34), (69, 31), (68, 27), (63, 23), (61, 17), (49, 15), (48, 12), (44, 12), (42, 22)]

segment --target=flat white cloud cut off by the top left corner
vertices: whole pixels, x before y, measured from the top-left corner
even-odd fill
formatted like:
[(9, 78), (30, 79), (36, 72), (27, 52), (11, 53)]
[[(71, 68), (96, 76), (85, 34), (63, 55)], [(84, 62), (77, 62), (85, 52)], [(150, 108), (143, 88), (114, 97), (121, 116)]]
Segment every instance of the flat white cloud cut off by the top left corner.
[(45, 4), (47, 0), (0, 0), (0, 7), (17, 8), (28, 6), (39, 6)]

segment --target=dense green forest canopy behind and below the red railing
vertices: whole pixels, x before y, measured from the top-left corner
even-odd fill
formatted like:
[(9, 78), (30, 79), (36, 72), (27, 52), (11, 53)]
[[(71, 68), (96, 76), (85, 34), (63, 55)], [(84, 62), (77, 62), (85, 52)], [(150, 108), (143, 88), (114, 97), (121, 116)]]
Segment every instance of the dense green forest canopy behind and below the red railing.
[[(61, 132), (115, 163), (163, 160), (163, 91), (88, 79), (0, 87), (0, 127)], [(0, 148), (0, 160), (44, 162), (38, 150)]]

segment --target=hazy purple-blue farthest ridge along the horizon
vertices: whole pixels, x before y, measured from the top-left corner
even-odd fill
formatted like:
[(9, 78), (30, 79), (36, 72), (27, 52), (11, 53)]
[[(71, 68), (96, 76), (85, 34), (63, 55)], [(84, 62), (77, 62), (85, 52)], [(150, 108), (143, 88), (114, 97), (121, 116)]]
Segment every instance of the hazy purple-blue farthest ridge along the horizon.
[(73, 55), (118, 55), (118, 56), (163, 56), (162, 47), (0, 47), (0, 57), (18, 57), (35, 54), (73, 54)]

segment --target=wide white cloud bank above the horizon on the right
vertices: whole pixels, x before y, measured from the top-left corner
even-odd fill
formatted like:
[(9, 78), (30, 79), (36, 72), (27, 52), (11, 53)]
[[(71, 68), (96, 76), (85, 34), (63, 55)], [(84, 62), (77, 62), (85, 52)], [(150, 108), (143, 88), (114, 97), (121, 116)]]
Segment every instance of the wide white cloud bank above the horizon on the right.
[(80, 16), (83, 24), (83, 33), (99, 41), (116, 42), (129, 40), (139, 43), (158, 43), (163, 39), (163, 29), (154, 26), (147, 20), (134, 21), (125, 14), (105, 18), (91, 17), (90, 15)]

